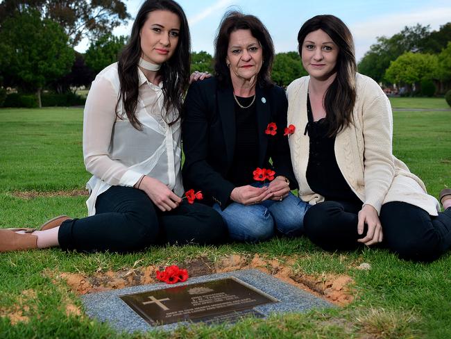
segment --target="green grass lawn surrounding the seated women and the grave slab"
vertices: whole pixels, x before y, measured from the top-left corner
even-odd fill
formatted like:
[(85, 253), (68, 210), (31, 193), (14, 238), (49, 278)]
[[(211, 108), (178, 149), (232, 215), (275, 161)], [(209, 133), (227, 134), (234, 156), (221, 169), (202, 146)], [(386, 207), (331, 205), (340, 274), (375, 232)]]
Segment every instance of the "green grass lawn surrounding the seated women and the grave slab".
[[(444, 99), (392, 99), (395, 107), (431, 108), (394, 113), (393, 149), (437, 196), (451, 187), (451, 112), (433, 111), (447, 108)], [(80, 108), (0, 109), (0, 227), (37, 226), (60, 214), (86, 215), (86, 197), (71, 196), (90, 177), (83, 167), (82, 119)], [(117, 334), (85, 315), (76, 288), (64, 278), (196, 261), (216, 267), (230, 256), (244, 258), (247, 265), (255, 254), (272, 274), (278, 270), (271, 267), (287, 267), (296, 282), (349, 276), (354, 301), (234, 326)], [(361, 263), (369, 263), (371, 270), (359, 270)], [(0, 254), (0, 281), (1, 338), (451, 338), (451, 254), (434, 263), (411, 263), (384, 249), (327, 253), (305, 238), (151, 247), (135, 254), (46, 249)]]

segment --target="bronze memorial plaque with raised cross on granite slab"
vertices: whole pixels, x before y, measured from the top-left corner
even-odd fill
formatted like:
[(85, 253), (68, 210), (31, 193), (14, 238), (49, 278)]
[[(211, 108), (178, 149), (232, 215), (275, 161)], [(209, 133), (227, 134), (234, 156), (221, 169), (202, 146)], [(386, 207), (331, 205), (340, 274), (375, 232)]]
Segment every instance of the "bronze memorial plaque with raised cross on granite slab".
[(121, 299), (152, 325), (234, 321), (247, 314), (262, 317), (252, 310), (254, 306), (278, 302), (234, 277), (122, 295)]

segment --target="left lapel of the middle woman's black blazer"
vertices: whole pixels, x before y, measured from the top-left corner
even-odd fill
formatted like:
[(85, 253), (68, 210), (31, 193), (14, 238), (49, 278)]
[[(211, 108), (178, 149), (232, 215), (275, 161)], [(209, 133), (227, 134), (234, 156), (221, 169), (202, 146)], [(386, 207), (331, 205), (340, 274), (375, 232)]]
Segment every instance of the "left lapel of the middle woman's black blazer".
[(235, 151), (235, 103), (232, 88), (218, 88), (218, 111), (226, 142), (228, 165), (233, 161)]

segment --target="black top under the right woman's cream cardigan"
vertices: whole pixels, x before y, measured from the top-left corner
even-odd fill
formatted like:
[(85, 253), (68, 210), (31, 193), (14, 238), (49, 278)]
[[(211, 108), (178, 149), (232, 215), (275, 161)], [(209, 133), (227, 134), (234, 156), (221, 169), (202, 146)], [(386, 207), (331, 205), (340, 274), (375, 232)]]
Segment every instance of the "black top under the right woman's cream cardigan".
[(309, 134), (310, 149), (306, 176), (310, 188), (322, 195), (325, 200), (350, 201), (361, 204), (361, 200), (352, 192), (343, 174), (341, 174), (337, 158), (335, 158), (335, 136), (327, 136), (329, 129), (327, 119), (313, 121), (312, 106), (308, 94), (307, 116), (309, 122), (305, 126), (305, 133)]

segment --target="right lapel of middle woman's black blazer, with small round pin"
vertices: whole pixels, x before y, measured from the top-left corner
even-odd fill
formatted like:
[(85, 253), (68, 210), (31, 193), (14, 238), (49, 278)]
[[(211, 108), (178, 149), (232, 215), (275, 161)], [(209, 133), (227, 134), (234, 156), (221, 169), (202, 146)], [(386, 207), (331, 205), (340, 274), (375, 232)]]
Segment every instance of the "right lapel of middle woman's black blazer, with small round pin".
[[(258, 163), (263, 164), (264, 158), (266, 156), (266, 149), (268, 149), (268, 138), (274, 138), (272, 135), (267, 135), (264, 133), (266, 127), (271, 122), (271, 108), (269, 107), (269, 101), (266, 97), (266, 91), (257, 85), (255, 88), (255, 98), (256, 108), (257, 108), (257, 128), (258, 128), (258, 141), (259, 141), (259, 154)], [(279, 126), (278, 126), (279, 127)], [(280, 132), (280, 131), (278, 131)]]

